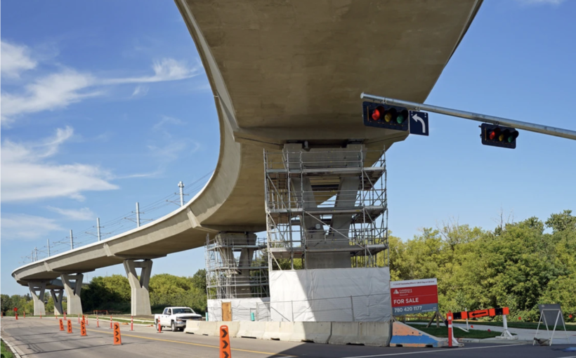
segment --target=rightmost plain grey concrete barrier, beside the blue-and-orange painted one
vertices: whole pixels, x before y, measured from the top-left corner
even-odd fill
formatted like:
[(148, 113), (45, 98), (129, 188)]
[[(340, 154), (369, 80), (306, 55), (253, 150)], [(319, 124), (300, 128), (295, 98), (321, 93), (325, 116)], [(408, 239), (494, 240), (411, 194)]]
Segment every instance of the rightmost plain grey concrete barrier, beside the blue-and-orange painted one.
[(386, 347), (392, 336), (391, 322), (332, 322), (331, 345)]

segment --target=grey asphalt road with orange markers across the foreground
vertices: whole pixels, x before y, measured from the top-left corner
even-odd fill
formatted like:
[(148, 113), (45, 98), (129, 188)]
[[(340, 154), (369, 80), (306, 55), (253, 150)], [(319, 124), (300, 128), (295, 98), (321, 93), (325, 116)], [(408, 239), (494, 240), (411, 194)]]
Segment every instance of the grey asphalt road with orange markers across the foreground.
[[(156, 333), (153, 327), (122, 325), (122, 345), (112, 345), (110, 324), (96, 328), (91, 321), (88, 336), (80, 336), (77, 319), (72, 319), (73, 333), (59, 331), (54, 318), (18, 319), (3, 317), (0, 321), (1, 336), (22, 357), (219, 357), (218, 337), (197, 336), (183, 332)], [(322, 345), (291, 343), (274, 340), (232, 338), (234, 358), (265, 357), (335, 357), (377, 358), (416, 355), (425, 357), (505, 357), (505, 358), (576, 358), (576, 352), (563, 352), (568, 345), (533, 347), (532, 345), (466, 344), (460, 348), (403, 348), (365, 347), (360, 345)]]

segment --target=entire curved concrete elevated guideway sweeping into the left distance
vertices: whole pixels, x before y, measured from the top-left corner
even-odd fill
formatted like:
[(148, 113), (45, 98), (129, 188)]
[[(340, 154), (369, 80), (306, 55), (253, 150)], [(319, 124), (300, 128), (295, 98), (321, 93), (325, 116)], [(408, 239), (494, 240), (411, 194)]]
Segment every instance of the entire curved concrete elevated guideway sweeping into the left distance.
[(423, 102), (480, 4), (176, 0), (218, 110), (214, 174), (188, 204), (163, 218), (19, 267), (13, 277), (36, 285), (197, 248), (207, 232), (265, 230), (263, 148), (292, 140), (388, 148), (404, 140), (407, 133), (362, 126), (358, 96)]

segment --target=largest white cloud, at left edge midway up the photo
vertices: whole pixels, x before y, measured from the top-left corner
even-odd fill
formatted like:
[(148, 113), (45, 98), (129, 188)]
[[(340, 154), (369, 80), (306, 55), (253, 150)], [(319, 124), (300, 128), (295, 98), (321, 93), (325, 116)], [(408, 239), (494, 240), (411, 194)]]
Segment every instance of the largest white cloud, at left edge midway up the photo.
[(83, 200), (82, 192), (114, 190), (112, 175), (98, 166), (55, 164), (46, 159), (72, 137), (70, 127), (58, 129), (53, 138), (34, 143), (5, 140), (1, 145), (1, 200), (22, 201), (53, 197)]

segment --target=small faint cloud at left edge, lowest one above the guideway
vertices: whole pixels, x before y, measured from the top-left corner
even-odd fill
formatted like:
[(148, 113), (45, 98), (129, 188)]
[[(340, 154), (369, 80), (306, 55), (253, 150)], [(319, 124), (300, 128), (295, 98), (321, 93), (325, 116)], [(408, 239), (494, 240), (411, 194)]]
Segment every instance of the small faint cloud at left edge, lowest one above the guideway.
[(3, 240), (33, 240), (64, 230), (53, 219), (27, 214), (3, 213), (1, 222)]

